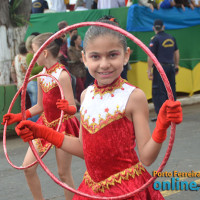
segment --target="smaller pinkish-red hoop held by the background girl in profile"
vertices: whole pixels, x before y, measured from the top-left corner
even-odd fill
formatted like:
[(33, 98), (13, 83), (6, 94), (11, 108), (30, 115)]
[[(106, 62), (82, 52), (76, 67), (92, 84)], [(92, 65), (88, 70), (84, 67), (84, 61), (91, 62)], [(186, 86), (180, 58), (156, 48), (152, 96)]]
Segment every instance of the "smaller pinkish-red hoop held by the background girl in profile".
[[(58, 84), (58, 87), (59, 87), (59, 89), (60, 89), (61, 99), (64, 98), (64, 94), (63, 94), (62, 87), (61, 87), (60, 83), (58, 82), (58, 80), (57, 80), (54, 76), (51, 76), (51, 75), (49, 75), (49, 74), (37, 74), (37, 75), (35, 75), (35, 76), (32, 76), (28, 81), (31, 81), (32, 79), (34, 79), (34, 78), (36, 78), (36, 77), (39, 77), (39, 76), (49, 76), (49, 77), (53, 78), (53, 79), (56, 81), (56, 83)], [(13, 105), (14, 105), (14, 103), (15, 103), (17, 97), (19, 96), (19, 94), (20, 94), (22, 88), (23, 88), (23, 86), (22, 86), (22, 87), (17, 91), (17, 93), (15, 94), (15, 96), (14, 96), (14, 98), (13, 98), (13, 100), (12, 100), (10, 106), (9, 106), (9, 109), (8, 109), (8, 112), (7, 112), (7, 113), (10, 113), (10, 112), (11, 112), (12, 107), (13, 107)], [(61, 127), (61, 124), (62, 124), (62, 119), (63, 119), (63, 113), (64, 113), (64, 112), (61, 111), (61, 116), (60, 116), (59, 124), (58, 124), (58, 127), (57, 127), (57, 129), (56, 129), (57, 131), (60, 130), (60, 127)], [(18, 166), (14, 165), (14, 164), (11, 162), (11, 160), (10, 160), (10, 158), (9, 158), (9, 156), (8, 156), (8, 153), (7, 153), (7, 148), (6, 148), (6, 129), (7, 129), (7, 122), (6, 122), (5, 125), (4, 125), (4, 131), (3, 131), (3, 149), (4, 149), (4, 154), (5, 154), (5, 157), (6, 157), (7, 161), (8, 161), (8, 163), (9, 163), (13, 168), (18, 169), (18, 170), (23, 170), (23, 169), (30, 168), (30, 167), (32, 167), (33, 165), (35, 165), (36, 163), (38, 163), (38, 160), (36, 160), (35, 162), (33, 162), (33, 163), (31, 163), (30, 165), (27, 165), (27, 166), (25, 166), (25, 167), (22, 167), (22, 166), (18, 167)], [(48, 151), (51, 149), (51, 147), (52, 147), (52, 144), (49, 145), (49, 147), (46, 149), (46, 151), (41, 155), (41, 157), (40, 157), (41, 159), (48, 153)]]

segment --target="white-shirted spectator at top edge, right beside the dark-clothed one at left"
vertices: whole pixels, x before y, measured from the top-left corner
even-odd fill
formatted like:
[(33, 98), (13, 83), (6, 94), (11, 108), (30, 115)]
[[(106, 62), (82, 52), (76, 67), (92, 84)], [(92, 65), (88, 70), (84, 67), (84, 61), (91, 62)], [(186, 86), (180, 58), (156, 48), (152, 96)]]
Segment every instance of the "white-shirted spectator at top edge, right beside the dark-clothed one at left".
[(47, 0), (50, 12), (66, 12), (67, 6), (64, 0)]

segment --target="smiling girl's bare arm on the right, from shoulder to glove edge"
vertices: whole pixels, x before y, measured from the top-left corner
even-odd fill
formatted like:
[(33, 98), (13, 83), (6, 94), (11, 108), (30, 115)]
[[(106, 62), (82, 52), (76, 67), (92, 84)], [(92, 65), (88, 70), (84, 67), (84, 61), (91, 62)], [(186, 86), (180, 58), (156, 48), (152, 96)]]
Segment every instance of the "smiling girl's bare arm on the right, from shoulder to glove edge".
[(126, 113), (135, 128), (136, 143), (141, 162), (149, 166), (158, 156), (162, 144), (154, 142), (149, 127), (149, 108), (144, 92), (135, 89), (127, 103)]

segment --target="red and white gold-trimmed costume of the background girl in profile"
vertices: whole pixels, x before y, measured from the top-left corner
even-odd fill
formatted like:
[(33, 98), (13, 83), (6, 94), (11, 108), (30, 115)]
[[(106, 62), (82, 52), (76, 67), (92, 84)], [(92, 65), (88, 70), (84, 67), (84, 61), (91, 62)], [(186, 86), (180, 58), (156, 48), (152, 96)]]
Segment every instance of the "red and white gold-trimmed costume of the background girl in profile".
[[(56, 79), (59, 79), (62, 70), (66, 70), (65, 67), (59, 63), (56, 63), (49, 69), (44, 67), (41, 73), (47, 73), (54, 76)], [(56, 130), (61, 114), (61, 111), (56, 107), (57, 100), (61, 99), (60, 89), (56, 81), (48, 76), (41, 76), (39, 83), (43, 93), (44, 112), (38, 119), (37, 123)], [(59, 132), (78, 137), (78, 119), (75, 116), (65, 114)], [(35, 139), (35, 141), (40, 152), (44, 152), (50, 145), (50, 143), (44, 139)]]

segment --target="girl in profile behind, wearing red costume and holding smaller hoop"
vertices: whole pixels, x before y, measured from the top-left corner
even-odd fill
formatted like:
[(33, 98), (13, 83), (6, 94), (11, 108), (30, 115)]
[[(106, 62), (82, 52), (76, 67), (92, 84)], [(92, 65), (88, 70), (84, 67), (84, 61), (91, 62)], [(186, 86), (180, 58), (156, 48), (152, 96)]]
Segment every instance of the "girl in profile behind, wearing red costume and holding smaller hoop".
[[(32, 41), (32, 47), (34, 53), (40, 48), (40, 46), (50, 37), (52, 34), (45, 33), (36, 36)], [(26, 110), (26, 117), (34, 116), (36, 114), (42, 113), (41, 117), (38, 119), (38, 126), (45, 125), (46, 127), (56, 130), (60, 110), (64, 110), (65, 114), (63, 117), (62, 126), (60, 133), (71, 136), (78, 136), (79, 132), (79, 122), (73, 114), (76, 113), (76, 107), (71, 87), (71, 80), (65, 67), (57, 62), (57, 56), (60, 50), (61, 40), (56, 39), (47, 46), (45, 50), (42, 51), (38, 57), (38, 65), (44, 65), (44, 69), (41, 73), (51, 74), (57, 78), (63, 88), (65, 100), (59, 100), (61, 98), (60, 90), (57, 83), (50, 77), (41, 76), (38, 78), (38, 102), (35, 106)], [(8, 125), (14, 122), (20, 121), (22, 119), (21, 113), (19, 114), (6, 114), (3, 117), (3, 123), (8, 120)], [(47, 147), (50, 145), (44, 139), (36, 139), (33, 141), (34, 146), (37, 148), (39, 154), (41, 155)], [(56, 160), (58, 165), (58, 174), (60, 179), (74, 187), (74, 182), (71, 174), (71, 160), (72, 155), (70, 153), (64, 152), (61, 149), (56, 148)], [(28, 149), (25, 156), (23, 166), (27, 166), (36, 160), (32, 153), (32, 150)], [(41, 186), (39, 177), (37, 176), (38, 164), (34, 165), (29, 169), (25, 169), (25, 176), (27, 183), (32, 192), (35, 200), (43, 200)], [(73, 197), (73, 193), (65, 190), (66, 200), (70, 200)]]

